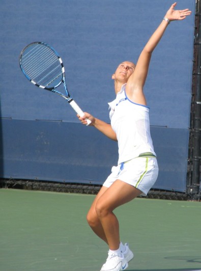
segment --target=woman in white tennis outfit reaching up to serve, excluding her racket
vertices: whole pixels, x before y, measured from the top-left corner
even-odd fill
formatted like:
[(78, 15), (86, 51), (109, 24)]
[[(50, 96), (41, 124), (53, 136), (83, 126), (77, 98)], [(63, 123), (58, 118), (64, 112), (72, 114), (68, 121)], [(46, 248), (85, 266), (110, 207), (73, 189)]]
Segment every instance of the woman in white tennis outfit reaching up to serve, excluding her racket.
[[(137, 64), (121, 63), (112, 75), (116, 99), (109, 103), (111, 124), (85, 112), (85, 118), (105, 136), (118, 141), (118, 166), (112, 167), (100, 192), (96, 196), (87, 220), (93, 231), (109, 247), (108, 257), (101, 271), (120, 271), (128, 267), (133, 258), (128, 243), (120, 241), (119, 222), (113, 210), (139, 195), (146, 196), (158, 176), (156, 153), (150, 136), (149, 107), (145, 85), (152, 52), (163, 36), (168, 24), (184, 20), (191, 14), (188, 9), (175, 10), (171, 5), (157, 30), (143, 48)], [(165, 63), (164, 63), (165, 65)], [(86, 125), (87, 121), (78, 116)]]

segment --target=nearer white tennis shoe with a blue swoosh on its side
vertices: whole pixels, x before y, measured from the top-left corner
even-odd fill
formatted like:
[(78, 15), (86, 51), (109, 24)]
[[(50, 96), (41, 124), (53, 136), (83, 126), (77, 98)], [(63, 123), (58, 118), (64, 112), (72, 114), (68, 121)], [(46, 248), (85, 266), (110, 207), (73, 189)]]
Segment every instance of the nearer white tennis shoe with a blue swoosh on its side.
[[(120, 257), (123, 256), (123, 257)], [(122, 271), (128, 267), (128, 262), (124, 255), (108, 252), (106, 262), (103, 264), (100, 271)]]

